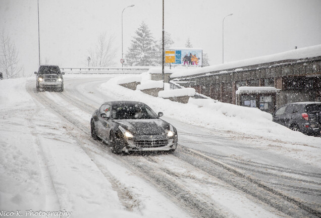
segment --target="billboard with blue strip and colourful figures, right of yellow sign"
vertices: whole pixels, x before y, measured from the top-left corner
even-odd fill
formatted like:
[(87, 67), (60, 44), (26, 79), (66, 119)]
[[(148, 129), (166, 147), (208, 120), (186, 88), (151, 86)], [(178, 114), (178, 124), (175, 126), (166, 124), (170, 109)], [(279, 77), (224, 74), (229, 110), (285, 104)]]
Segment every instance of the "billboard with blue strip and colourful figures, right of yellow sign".
[(202, 66), (202, 49), (194, 48), (176, 48), (175, 63), (177, 65), (188, 65), (193, 67)]

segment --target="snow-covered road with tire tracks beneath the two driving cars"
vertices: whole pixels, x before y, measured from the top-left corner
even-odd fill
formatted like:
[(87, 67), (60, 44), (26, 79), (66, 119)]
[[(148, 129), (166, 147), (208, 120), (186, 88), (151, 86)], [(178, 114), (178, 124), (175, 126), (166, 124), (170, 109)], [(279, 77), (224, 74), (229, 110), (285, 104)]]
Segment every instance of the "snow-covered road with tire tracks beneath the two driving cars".
[[(295, 148), (283, 146), (291, 142), (205, 128), (166, 113), (179, 133), (172, 154), (117, 155), (92, 140), (92, 112), (122, 96), (106, 90), (109, 80), (66, 76), (62, 93), (36, 92), (33, 79), (6, 84), (15, 93), (0, 96), (6, 101), (0, 107), (0, 172), (6, 175), (0, 210), (66, 210), (71, 217), (321, 215), (320, 165), (294, 158)], [(296, 147), (308, 147), (309, 156), (320, 152), (318, 142)]]

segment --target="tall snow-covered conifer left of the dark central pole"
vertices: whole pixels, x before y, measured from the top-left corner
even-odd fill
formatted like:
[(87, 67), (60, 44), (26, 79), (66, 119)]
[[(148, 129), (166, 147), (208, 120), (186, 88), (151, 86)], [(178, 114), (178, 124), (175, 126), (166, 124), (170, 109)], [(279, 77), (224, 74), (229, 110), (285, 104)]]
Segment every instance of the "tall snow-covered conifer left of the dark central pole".
[(158, 65), (158, 49), (148, 26), (142, 22), (135, 33), (136, 36), (133, 37), (129, 51), (125, 56), (127, 64), (129, 66)]

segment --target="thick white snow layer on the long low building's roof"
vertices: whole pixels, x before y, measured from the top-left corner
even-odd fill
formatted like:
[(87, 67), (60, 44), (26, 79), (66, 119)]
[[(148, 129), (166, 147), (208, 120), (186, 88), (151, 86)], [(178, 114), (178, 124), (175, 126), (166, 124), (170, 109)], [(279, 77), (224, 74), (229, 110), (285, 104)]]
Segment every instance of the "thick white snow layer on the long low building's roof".
[(180, 71), (177, 73), (173, 73), (171, 75), (171, 78), (176, 78), (181, 76), (190, 76), (195, 74), (203, 74), (207, 72), (220, 71), (220, 70), (226, 70), (226, 69), (232, 69), (232, 68), (241, 68), (245, 66), (271, 63), (271, 62), (277, 62), (282, 60), (297, 60), (297, 59), (304, 59), (304, 58), (314, 58), (319, 56), (321, 56), (321, 44), (311, 46), (311, 47), (294, 49), (294, 50), (290, 50), (282, 53), (277, 53), (275, 55), (269, 55), (269, 56), (246, 59), (246, 60), (230, 62), (230, 63), (220, 64), (220, 65), (214, 65), (209, 67), (197, 68), (189, 71)]

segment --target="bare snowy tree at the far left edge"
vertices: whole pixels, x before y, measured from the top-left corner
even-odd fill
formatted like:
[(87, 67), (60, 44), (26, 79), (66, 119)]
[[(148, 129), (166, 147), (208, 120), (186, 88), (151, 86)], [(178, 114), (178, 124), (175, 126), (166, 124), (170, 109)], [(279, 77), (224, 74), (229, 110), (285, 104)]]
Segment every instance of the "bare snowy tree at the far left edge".
[(9, 36), (5, 36), (4, 31), (0, 35), (0, 72), (3, 73), (4, 79), (11, 79), (23, 76), (23, 68), (19, 67), (18, 54), (14, 43)]

